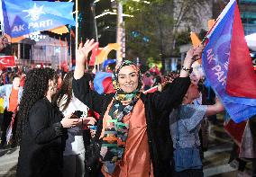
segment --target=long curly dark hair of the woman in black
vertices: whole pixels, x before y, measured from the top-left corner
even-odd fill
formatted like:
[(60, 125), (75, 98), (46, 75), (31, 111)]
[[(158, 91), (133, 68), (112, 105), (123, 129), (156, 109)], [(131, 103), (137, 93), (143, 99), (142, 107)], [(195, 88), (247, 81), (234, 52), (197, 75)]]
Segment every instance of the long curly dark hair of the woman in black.
[(49, 80), (53, 79), (57, 80), (57, 75), (51, 68), (34, 68), (27, 74), (18, 112), (16, 133), (18, 142), (20, 142), (23, 130), (27, 126), (28, 114), (32, 105), (46, 95), (49, 88)]

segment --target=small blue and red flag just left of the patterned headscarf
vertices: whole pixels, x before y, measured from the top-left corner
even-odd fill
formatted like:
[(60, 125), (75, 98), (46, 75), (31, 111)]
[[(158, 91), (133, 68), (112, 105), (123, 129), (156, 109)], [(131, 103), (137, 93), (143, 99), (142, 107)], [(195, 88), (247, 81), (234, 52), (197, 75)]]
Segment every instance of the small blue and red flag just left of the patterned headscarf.
[(112, 73), (96, 72), (94, 88), (97, 93), (115, 93), (112, 84)]

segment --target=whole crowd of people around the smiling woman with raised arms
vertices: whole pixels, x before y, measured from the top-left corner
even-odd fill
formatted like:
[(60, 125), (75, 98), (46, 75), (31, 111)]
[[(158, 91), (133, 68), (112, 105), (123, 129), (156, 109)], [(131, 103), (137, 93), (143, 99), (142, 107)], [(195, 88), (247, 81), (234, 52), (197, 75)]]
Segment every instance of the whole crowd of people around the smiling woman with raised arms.
[[(0, 49), (5, 43), (2, 37)], [(189, 49), (180, 72), (165, 76), (119, 61), (114, 93), (100, 94), (85, 68), (96, 45), (79, 45), (75, 71), (41, 67), (2, 74), (0, 148), (20, 146), (16, 176), (203, 177), (206, 122), (224, 112), (217, 97), (209, 98), (204, 77), (191, 75), (204, 46)], [(158, 91), (147, 93), (154, 86)], [(250, 132), (253, 121), (247, 124)], [(252, 153), (245, 142), (240, 153), (254, 159), (253, 136), (244, 137)]]

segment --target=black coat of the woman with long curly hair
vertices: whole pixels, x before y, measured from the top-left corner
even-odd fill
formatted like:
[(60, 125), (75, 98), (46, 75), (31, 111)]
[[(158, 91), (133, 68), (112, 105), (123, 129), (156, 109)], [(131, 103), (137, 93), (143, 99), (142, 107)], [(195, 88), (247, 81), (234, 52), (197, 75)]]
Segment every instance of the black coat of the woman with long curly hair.
[(23, 132), (17, 177), (62, 176), (66, 130), (61, 119), (61, 112), (46, 98), (34, 103)]

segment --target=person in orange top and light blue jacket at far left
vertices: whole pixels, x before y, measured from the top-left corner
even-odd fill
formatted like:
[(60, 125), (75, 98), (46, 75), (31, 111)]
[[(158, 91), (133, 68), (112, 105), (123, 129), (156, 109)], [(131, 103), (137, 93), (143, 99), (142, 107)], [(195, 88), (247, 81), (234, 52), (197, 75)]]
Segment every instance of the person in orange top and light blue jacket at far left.
[[(20, 75), (14, 75), (13, 84), (4, 84), (0, 86), (0, 93), (5, 95), (4, 97), (4, 119), (2, 124), (2, 136), (1, 136), (1, 147), (5, 146), (6, 143), (6, 131), (11, 123), (13, 115), (16, 114), (18, 105), (23, 95), (23, 87), (20, 86), (21, 78)], [(15, 137), (16, 119), (14, 119), (13, 137)], [(13, 140), (13, 145), (15, 142)]]

